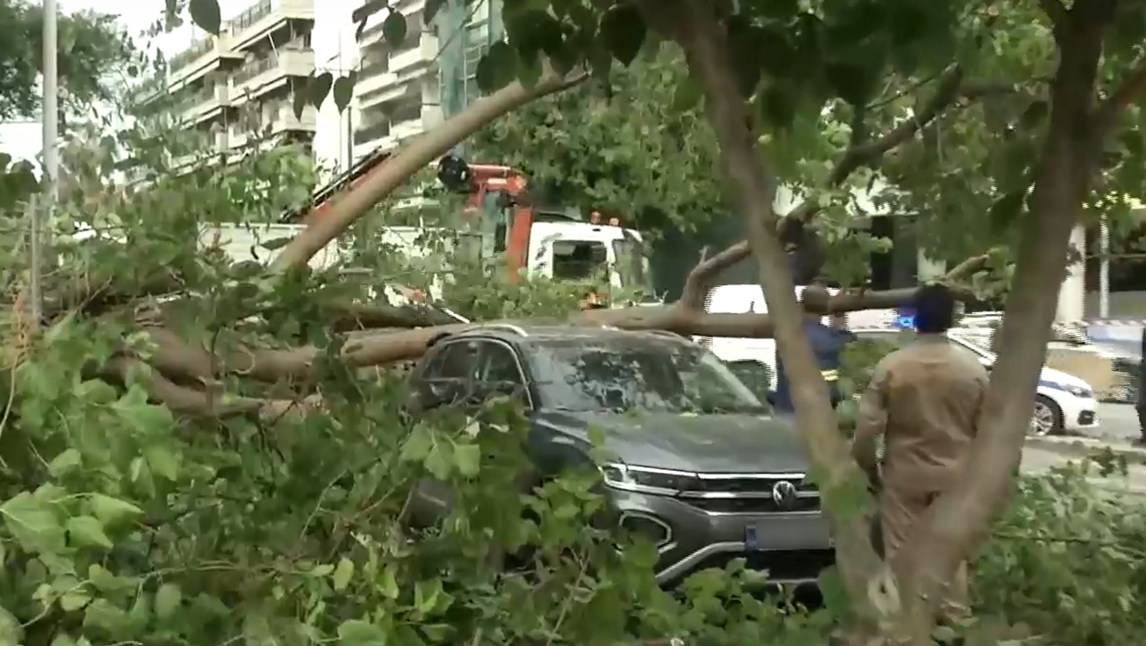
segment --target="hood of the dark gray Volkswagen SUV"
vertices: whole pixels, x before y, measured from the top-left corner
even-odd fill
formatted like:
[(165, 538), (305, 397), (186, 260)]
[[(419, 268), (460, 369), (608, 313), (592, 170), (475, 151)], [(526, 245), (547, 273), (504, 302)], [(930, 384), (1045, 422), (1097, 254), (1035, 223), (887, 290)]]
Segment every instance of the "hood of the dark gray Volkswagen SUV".
[(768, 415), (543, 411), (537, 422), (589, 442), (605, 436), (609, 456), (626, 464), (694, 473), (806, 473), (808, 460), (786, 418)]

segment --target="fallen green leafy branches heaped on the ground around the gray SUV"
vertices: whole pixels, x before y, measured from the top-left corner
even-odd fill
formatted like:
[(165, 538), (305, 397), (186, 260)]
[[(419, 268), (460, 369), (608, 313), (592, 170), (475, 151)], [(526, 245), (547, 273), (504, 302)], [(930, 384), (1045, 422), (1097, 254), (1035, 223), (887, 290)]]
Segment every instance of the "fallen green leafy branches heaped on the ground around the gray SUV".
[[(61, 276), (128, 290), (172, 278), (167, 293), (180, 298), (165, 304), (168, 316), (203, 342), (315, 344), (313, 379), (277, 387), (286, 396), (321, 392), (324, 403), (274, 423), (173, 413), (149, 399), (147, 371), (101, 368), (148, 355), (132, 307), (77, 312), (31, 339), (9, 325), (0, 641), (823, 643), (843, 612), (838, 601), (807, 610), (763, 599), (761, 576), (736, 564), (675, 591), (658, 588), (656, 552), (611, 530), (595, 471), (533, 475), (526, 426), (508, 402), (477, 417), (444, 410), (414, 419), (399, 377), (330, 361), (343, 340), (324, 325), (322, 304), (362, 294), (340, 286), (345, 276), (244, 274), (193, 244), (203, 222), (277, 212), (267, 203), (289, 202), (273, 191), (290, 182), (266, 180), (282, 168), (250, 160), (227, 174), (162, 176), (113, 200), (76, 196), (65, 205), (62, 228), (96, 223), (115, 236), (60, 245)], [(233, 199), (241, 187), (272, 192), (267, 202)], [(393, 250), (388, 263), (384, 249), (371, 253), (378, 262), (361, 263), (368, 281), (416, 277)], [(23, 255), (7, 258), (8, 275), (21, 276)], [(560, 315), (574, 304), (576, 294), (554, 285), (490, 275), (460, 269), (447, 305), (485, 318)], [(253, 392), (235, 377), (218, 387)], [(998, 617), (1027, 625), (1006, 635), (1113, 644), (1140, 629), (1143, 576), (1132, 557), (1146, 537), (1141, 507), (1104, 498), (1085, 475), (1062, 470), (1017, 483), (1010, 514), (976, 561), (980, 620), (965, 630), (997, 635), (988, 628)], [(431, 480), (450, 512), (411, 531), (407, 501)]]

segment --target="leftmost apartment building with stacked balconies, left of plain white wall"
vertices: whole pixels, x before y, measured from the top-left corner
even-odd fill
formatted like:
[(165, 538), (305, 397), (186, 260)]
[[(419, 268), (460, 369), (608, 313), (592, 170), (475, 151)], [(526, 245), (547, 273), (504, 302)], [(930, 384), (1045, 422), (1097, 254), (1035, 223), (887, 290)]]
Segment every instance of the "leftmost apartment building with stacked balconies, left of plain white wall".
[[(217, 152), (242, 152), (285, 140), (313, 140), (313, 107), (295, 115), (292, 90), (315, 70), (314, 0), (257, 0), (226, 22), (219, 37), (196, 39), (168, 60), (166, 93), (189, 129)], [(158, 89), (158, 88), (156, 88)]]

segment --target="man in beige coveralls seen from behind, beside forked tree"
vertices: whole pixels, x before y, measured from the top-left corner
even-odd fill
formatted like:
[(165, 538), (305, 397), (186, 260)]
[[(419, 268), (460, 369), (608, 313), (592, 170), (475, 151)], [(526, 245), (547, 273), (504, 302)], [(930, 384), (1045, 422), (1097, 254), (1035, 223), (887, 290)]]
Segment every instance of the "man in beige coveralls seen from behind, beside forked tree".
[[(945, 332), (955, 323), (955, 298), (942, 285), (916, 293), (916, 339), (884, 357), (859, 400), (853, 454), (880, 486), (884, 558), (901, 578), (913, 534), (928, 507), (959, 476), (987, 392), (987, 370)], [(882, 468), (876, 442), (885, 439)], [(882, 471), (882, 473), (880, 473)], [(967, 609), (964, 562), (940, 601), (941, 623)]]

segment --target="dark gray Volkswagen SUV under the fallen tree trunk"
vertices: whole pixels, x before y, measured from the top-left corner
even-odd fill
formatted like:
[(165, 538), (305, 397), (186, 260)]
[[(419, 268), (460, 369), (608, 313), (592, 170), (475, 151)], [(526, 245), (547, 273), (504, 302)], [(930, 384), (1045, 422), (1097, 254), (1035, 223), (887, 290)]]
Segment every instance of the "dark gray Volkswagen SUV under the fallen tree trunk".
[[(656, 543), (672, 585), (745, 558), (777, 583), (813, 583), (834, 562), (819, 494), (792, 424), (705, 348), (675, 334), (602, 328), (474, 325), (435, 340), (410, 375), (416, 408), (519, 395), (540, 476), (589, 460), (590, 426), (619, 522)], [(464, 399), (464, 394), (463, 397)], [(423, 482), (415, 525), (448, 495)]]

